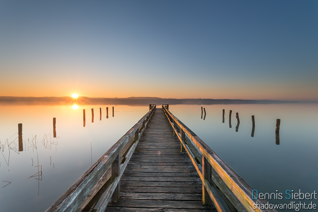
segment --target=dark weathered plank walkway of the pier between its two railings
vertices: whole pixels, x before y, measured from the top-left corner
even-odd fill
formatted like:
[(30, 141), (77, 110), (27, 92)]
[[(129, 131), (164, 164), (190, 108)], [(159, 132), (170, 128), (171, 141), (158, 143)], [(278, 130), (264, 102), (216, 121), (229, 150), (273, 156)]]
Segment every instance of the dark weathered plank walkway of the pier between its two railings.
[(202, 203), (202, 181), (161, 108), (155, 110), (106, 211), (217, 211)]

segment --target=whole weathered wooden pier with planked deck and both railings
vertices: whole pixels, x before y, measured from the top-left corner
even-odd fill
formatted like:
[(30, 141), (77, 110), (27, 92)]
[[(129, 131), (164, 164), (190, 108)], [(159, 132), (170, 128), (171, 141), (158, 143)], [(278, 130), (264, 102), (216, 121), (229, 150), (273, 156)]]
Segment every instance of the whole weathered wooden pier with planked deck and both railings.
[(276, 211), (254, 209), (252, 190), (169, 112), (169, 105), (149, 105), (149, 112), (47, 212), (225, 212), (214, 191), (231, 212)]

